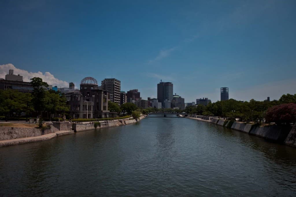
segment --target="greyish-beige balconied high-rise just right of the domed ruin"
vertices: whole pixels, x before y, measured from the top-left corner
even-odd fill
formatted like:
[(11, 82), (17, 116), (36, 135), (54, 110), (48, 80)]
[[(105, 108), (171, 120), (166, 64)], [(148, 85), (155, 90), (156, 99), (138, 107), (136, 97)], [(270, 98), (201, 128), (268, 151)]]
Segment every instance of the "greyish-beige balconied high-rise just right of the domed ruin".
[(110, 95), (113, 95), (113, 102), (120, 105), (120, 80), (104, 79), (102, 80), (103, 90), (107, 90)]

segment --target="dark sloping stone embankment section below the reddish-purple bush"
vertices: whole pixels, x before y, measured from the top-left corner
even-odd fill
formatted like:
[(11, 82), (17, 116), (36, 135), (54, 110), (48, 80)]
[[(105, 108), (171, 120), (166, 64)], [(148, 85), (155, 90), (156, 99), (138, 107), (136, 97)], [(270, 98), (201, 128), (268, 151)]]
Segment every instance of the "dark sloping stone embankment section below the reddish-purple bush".
[(249, 133), (251, 135), (263, 137), (267, 140), (283, 143), (290, 131), (291, 127), (271, 125), (265, 127), (253, 127)]

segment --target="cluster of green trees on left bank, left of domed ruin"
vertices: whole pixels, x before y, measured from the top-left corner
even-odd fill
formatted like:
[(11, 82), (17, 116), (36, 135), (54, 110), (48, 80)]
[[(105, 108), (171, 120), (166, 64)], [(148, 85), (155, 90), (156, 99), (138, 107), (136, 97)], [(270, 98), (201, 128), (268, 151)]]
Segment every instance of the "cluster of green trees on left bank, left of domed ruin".
[(32, 93), (21, 93), (17, 90), (0, 90), (0, 114), (4, 115), (6, 121), (9, 118), (20, 117), (25, 112), (26, 121), (33, 113), (41, 116), (41, 112), (49, 113), (49, 120), (53, 114), (65, 113), (69, 110), (66, 97), (59, 91), (46, 90), (48, 84), (39, 77), (31, 79)]

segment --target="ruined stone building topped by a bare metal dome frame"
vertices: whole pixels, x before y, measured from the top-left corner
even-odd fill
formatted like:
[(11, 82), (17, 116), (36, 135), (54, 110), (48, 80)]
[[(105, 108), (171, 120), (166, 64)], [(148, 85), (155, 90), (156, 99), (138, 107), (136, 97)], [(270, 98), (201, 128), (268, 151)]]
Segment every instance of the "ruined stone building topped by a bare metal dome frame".
[(107, 118), (114, 114), (108, 110), (109, 93), (93, 77), (81, 80), (80, 91), (68, 92), (70, 116), (73, 118)]

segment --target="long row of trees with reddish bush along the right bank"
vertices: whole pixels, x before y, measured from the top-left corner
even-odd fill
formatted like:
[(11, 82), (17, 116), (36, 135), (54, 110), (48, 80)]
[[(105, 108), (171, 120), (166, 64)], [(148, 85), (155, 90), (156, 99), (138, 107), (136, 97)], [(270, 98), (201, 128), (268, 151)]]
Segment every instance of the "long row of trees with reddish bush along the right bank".
[(207, 106), (188, 106), (188, 114), (224, 117), (242, 122), (275, 122), (279, 125), (296, 121), (296, 94), (282, 95), (279, 100), (241, 102), (234, 99), (217, 101)]

